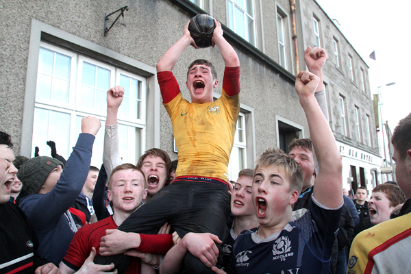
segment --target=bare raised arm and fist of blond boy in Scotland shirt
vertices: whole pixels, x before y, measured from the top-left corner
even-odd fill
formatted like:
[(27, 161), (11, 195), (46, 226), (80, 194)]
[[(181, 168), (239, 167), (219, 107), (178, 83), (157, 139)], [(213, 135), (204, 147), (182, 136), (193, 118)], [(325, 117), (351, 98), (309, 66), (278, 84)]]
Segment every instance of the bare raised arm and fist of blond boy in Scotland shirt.
[(314, 97), (318, 84), (319, 77), (308, 71), (301, 71), (295, 81), (295, 90), (306, 113), (312, 145), (319, 162), (313, 196), (323, 206), (337, 208), (343, 203), (341, 155), (327, 119)]

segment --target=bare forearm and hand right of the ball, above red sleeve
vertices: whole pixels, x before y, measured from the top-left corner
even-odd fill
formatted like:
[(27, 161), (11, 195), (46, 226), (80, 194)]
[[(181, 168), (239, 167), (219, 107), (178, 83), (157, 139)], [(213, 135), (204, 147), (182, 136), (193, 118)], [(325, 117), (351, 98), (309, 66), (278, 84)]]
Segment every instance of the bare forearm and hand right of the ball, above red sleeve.
[(240, 66), (240, 61), (236, 51), (234, 51), (232, 45), (229, 45), (227, 40), (223, 37), (223, 29), (221, 28), (221, 23), (216, 21), (214, 18), (214, 23), (216, 23), (216, 28), (214, 29), (212, 35), (212, 47), (217, 45), (220, 49), (221, 56), (224, 59), (225, 66), (235, 67)]

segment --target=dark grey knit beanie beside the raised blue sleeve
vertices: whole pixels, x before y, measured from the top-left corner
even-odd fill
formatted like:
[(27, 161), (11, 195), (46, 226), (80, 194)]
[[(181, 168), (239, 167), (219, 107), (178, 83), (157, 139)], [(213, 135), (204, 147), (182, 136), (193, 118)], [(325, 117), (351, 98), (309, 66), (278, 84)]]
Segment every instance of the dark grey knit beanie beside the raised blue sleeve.
[(64, 168), (64, 164), (57, 159), (47, 156), (35, 157), (20, 166), (17, 177), (29, 194), (38, 193), (51, 171), (58, 165)]

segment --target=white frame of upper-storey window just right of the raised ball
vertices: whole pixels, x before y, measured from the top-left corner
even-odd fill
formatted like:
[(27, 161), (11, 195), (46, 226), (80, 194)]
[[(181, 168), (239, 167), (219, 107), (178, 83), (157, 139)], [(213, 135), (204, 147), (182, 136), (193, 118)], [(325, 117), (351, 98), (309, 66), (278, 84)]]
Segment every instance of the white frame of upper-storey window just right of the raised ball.
[[(251, 10), (252, 10), (253, 14), (247, 13), (244, 8), (242, 8), (240, 5), (238, 5), (238, 3), (236, 3), (236, 1), (242, 1), (245, 6), (247, 6), (248, 1), (251, 1)], [(244, 16), (244, 18), (243, 18), (244, 24), (245, 24), (244, 25), (244, 29), (245, 29), (245, 38), (244, 39), (247, 42), (249, 42), (250, 44), (256, 46), (257, 45), (257, 43), (256, 43), (256, 39), (257, 39), (257, 37), (256, 37), (256, 17), (254, 15), (254, 14), (256, 14), (256, 12), (254, 10), (255, 9), (254, 8), (254, 1), (253, 0), (228, 0), (227, 5), (231, 5), (232, 12), (233, 12), (232, 14), (230, 14), (229, 13), (229, 7), (227, 6), (227, 18), (229, 18), (228, 27), (230, 29), (232, 29), (237, 34), (237, 32), (236, 32), (236, 12), (235, 12), (235, 9), (238, 8)], [(247, 24), (248, 18), (251, 19), (251, 21), (253, 22), (252, 27), (251, 27), (251, 31), (253, 32), (253, 40), (252, 41), (249, 40), (250, 29), (249, 29), (248, 24)]]

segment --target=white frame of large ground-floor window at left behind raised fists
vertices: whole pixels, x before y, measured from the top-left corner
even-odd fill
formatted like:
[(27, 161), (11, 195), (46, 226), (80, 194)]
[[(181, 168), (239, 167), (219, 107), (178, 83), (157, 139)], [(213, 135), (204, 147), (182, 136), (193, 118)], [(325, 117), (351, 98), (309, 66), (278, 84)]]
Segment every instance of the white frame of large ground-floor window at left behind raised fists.
[[(36, 112), (36, 109), (43, 109), (43, 110), (48, 110), (48, 111), (53, 111), (53, 112), (60, 112), (63, 114), (69, 114), (69, 128), (67, 129), (69, 132), (69, 149), (60, 151), (58, 150), (58, 153), (60, 152), (62, 155), (64, 155), (64, 158), (69, 158), (69, 155), (71, 153), (71, 147), (75, 146), (75, 143), (77, 142), (78, 134), (79, 134), (79, 125), (77, 124), (77, 116), (79, 117), (84, 117), (88, 115), (96, 116), (98, 119), (100, 119), (101, 124), (104, 125), (105, 123), (105, 116), (106, 116), (106, 110), (103, 111), (98, 111), (94, 110), (92, 108), (85, 108), (82, 107), (80, 104), (80, 92), (81, 92), (81, 87), (82, 87), (82, 65), (84, 62), (102, 67), (103, 69), (108, 69), (110, 71), (110, 87), (112, 86), (118, 86), (120, 82), (120, 74), (125, 75), (126, 77), (132, 77), (140, 82), (140, 91), (141, 91), (141, 101), (140, 103), (140, 119), (129, 119), (129, 117), (125, 116), (119, 116), (119, 125), (125, 125), (125, 126), (130, 126), (136, 128), (136, 130), (140, 130), (140, 142), (136, 143), (136, 145), (139, 145), (139, 147), (136, 147), (136, 151), (140, 151), (140, 154), (142, 151), (145, 151), (145, 134), (146, 134), (146, 104), (147, 104), (147, 98), (146, 98), (146, 82), (147, 80), (144, 77), (129, 73), (127, 71), (123, 71), (121, 69), (117, 69), (114, 66), (110, 66), (108, 64), (92, 60), (90, 58), (87, 58), (83, 55), (78, 55), (77, 53), (73, 53), (71, 51), (66, 51), (65, 49), (61, 49), (60, 47), (55, 47), (53, 45), (49, 45), (45, 42), (40, 42), (40, 47), (44, 49), (48, 49), (50, 51), (54, 51), (55, 53), (60, 53), (63, 55), (67, 55), (71, 57), (71, 78), (69, 82), (69, 103), (62, 103), (58, 101), (53, 101), (53, 100), (47, 100), (47, 99), (41, 99), (41, 98), (36, 98), (34, 100), (34, 113)], [(37, 73), (38, 70), (37, 70)], [(104, 97), (105, 100), (105, 97)], [(50, 114), (49, 114), (50, 115)], [(50, 118), (49, 118), (49, 123), (50, 123)], [(42, 149), (40, 149), (40, 155), (46, 155), (47, 152), (49, 151), (49, 148), (47, 147), (46, 144), (36, 144), (35, 140), (35, 134), (36, 130), (40, 128), (40, 125), (36, 125), (36, 121), (34, 121), (34, 130), (32, 133), (32, 148), (31, 148), (31, 153), (30, 155), (34, 155), (34, 148), (36, 146), (41, 146)], [(49, 132), (48, 132), (49, 136)], [(96, 136), (96, 141), (95, 145), (97, 145), (97, 142), (101, 143), (101, 155), (103, 153), (102, 151), (102, 142), (104, 138), (104, 130), (103, 127), (102, 129), (99, 130), (99, 133)], [(99, 139), (99, 140), (97, 140)], [(56, 146), (58, 146), (58, 140), (54, 140), (56, 142)], [(95, 153), (96, 155), (96, 153)], [(97, 157), (97, 155), (96, 155)], [(92, 158), (92, 164), (95, 162), (95, 165), (101, 164), (101, 157), (98, 157), (99, 159), (97, 160), (96, 157)], [(140, 155), (135, 155), (136, 160)], [(99, 164), (97, 164), (97, 162)]]

